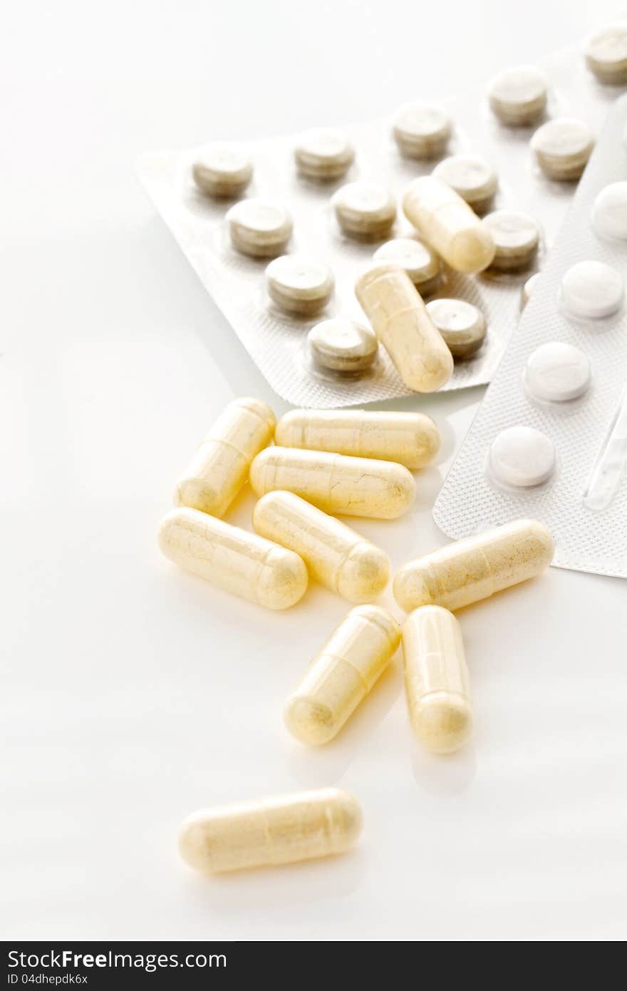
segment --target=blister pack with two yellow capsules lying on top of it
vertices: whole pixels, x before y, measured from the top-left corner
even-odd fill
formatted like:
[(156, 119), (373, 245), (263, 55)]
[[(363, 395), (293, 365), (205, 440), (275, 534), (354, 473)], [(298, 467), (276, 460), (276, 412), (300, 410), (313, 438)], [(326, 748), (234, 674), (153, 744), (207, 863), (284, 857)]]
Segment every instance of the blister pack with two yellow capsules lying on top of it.
[[(539, 249), (535, 253), (532, 250), (528, 263), (520, 270), (495, 272), (488, 269), (480, 275), (461, 275), (443, 266), (441, 274), (421, 290), (427, 299), (454, 298), (474, 304), (487, 324), (481, 346), (470, 355), (461, 353), (456, 358), (454, 373), (443, 387), (463, 388), (490, 381), (518, 322), (522, 285), (536, 269), (543, 267), (547, 247), (560, 229), (575, 188), (574, 181), (565, 181), (573, 175), (547, 177), (546, 168), (550, 170), (554, 165), (551, 148), (532, 149), (532, 136), (543, 120), (556, 118), (576, 118), (582, 122), (584, 130), (595, 134), (607, 107), (620, 92), (611, 80), (600, 83), (596, 79), (578, 49), (546, 59), (541, 68), (546, 77), (548, 100), (546, 106), (543, 102), (540, 107), (539, 116), (538, 107), (534, 110), (531, 99), (524, 104), (527, 117), (523, 114), (522, 119), (503, 123), (511, 114), (512, 106), (507, 86), (491, 91), (489, 100), (487, 87), (481, 87), (439, 101), (450, 115), (453, 129), (441, 147), (436, 143), (429, 150), (435, 158), (427, 161), (406, 154), (408, 151), (415, 154), (415, 150), (406, 147), (403, 150), (402, 135), (394, 140), (391, 118), (343, 129), (355, 150), (355, 159), (341, 178), (327, 176), (321, 181), (303, 174), (308, 163), (304, 154), (301, 168), (297, 170), (294, 151), (299, 139), (296, 136), (261, 141), (251, 146), (252, 179), (249, 182), (245, 164), (239, 168), (234, 165), (232, 174), (237, 181), (233, 190), (248, 182), (246, 191), (239, 192), (243, 197), (240, 202), (255, 204), (261, 197), (284, 206), (286, 214), (274, 218), (278, 225), (277, 235), (280, 234), (278, 241), (282, 239), (280, 245), (277, 241), (275, 254), (288, 252), (290, 256), (306, 256), (316, 260), (322, 270), (326, 267), (334, 276), (335, 291), (316, 316), (285, 313), (277, 305), (276, 293), (274, 298), (268, 293), (269, 281), (266, 282), (264, 272), (269, 257), (252, 258), (234, 246), (238, 232), (247, 233), (245, 226), (236, 227), (227, 220), (236, 200), (216, 198), (199, 191), (192, 180), (192, 166), (198, 150), (147, 155), (141, 160), (140, 177), (158, 212), (269, 385), (283, 399), (298, 406), (338, 407), (411, 394), (382, 347), (378, 348), (375, 360), (369, 363), (367, 348), (371, 345), (364, 335), (356, 341), (350, 330), (347, 331), (346, 362), (342, 359), (335, 366), (330, 362), (321, 367), (312, 357), (308, 331), (320, 321), (338, 317), (351, 323), (366, 323), (354, 286), (356, 277), (371, 261), (374, 252), (389, 239), (408, 238), (414, 245), (419, 244), (416, 231), (403, 216), (400, 205), (393, 224), (388, 225), (384, 233), (382, 227), (385, 225), (382, 225), (374, 232), (373, 239), (364, 240), (341, 229), (332, 199), (346, 183), (365, 180), (388, 191), (395, 205), (412, 179), (431, 173), (434, 167), (444, 169), (441, 171), (443, 179), (451, 181), (447, 163), (450, 164), (450, 157), (463, 155), (478, 157), (489, 164), (497, 177), (493, 196), (488, 188), (490, 182), (483, 183), (485, 201), (473, 204), (477, 212), (479, 209), (483, 212), (520, 211), (533, 218), (540, 230)], [(520, 95), (514, 93), (514, 96), (514, 103), (518, 101), (516, 106), (523, 105)], [(533, 124), (528, 122), (532, 116)], [(542, 156), (545, 170), (539, 165)], [(577, 160), (575, 172), (580, 167), (582, 164)], [(207, 177), (212, 180), (207, 171), (199, 175), (201, 181)], [(224, 193), (225, 190), (219, 191)], [(387, 208), (386, 204), (381, 204), (381, 209), (384, 207)], [(345, 204), (345, 214), (347, 222), (351, 222), (351, 203)], [(382, 213), (377, 216), (382, 217)], [(293, 222), (291, 236), (286, 223), (289, 218)], [(265, 248), (263, 251), (268, 254)], [(318, 281), (324, 281), (322, 270), (317, 270)], [(280, 272), (277, 275), (280, 279)], [(308, 277), (313, 275), (315, 273), (311, 271), (308, 273)], [(446, 311), (443, 318), (455, 324), (458, 319), (467, 321), (468, 314), (468, 308), (461, 317)], [(326, 329), (323, 328), (320, 343), (323, 357), (328, 336)], [(366, 335), (368, 332), (366, 326)], [(351, 365), (354, 351), (361, 361), (355, 368)]]

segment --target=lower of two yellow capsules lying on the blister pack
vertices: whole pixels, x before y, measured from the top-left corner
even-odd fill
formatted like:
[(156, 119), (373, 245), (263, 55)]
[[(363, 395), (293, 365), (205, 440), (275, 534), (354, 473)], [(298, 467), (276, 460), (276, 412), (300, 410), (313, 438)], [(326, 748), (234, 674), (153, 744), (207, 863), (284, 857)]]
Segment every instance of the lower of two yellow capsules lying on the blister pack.
[(434, 392), (449, 381), (453, 356), (406, 272), (395, 265), (373, 266), (358, 278), (355, 292), (408, 388)]

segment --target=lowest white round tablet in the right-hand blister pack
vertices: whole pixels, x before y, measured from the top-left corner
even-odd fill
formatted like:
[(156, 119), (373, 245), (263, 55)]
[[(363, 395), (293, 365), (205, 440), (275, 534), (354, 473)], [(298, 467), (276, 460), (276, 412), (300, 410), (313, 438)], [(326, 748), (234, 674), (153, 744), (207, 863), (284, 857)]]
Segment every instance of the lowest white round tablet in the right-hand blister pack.
[(547, 482), (555, 471), (553, 441), (534, 427), (508, 427), (492, 441), (489, 470), (496, 482), (529, 489)]

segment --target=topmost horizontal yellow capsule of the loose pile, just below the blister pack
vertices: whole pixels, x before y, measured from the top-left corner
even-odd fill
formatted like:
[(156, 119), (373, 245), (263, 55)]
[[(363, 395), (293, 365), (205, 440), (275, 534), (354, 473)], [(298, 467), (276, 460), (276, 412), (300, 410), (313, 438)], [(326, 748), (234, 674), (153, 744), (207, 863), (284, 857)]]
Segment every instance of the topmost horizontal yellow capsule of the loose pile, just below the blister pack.
[(424, 468), (440, 450), (440, 431), (423, 413), (370, 409), (292, 409), (274, 431), (281, 447), (332, 451)]

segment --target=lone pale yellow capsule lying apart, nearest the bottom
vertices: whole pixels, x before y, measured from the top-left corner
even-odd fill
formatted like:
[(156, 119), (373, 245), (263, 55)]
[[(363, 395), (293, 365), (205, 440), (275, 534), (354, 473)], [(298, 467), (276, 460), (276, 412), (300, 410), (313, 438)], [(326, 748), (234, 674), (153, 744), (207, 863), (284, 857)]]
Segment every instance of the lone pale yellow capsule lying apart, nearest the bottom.
[(355, 844), (362, 823), (352, 795), (321, 788), (202, 809), (180, 827), (178, 849), (194, 870), (219, 874), (344, 853)]

